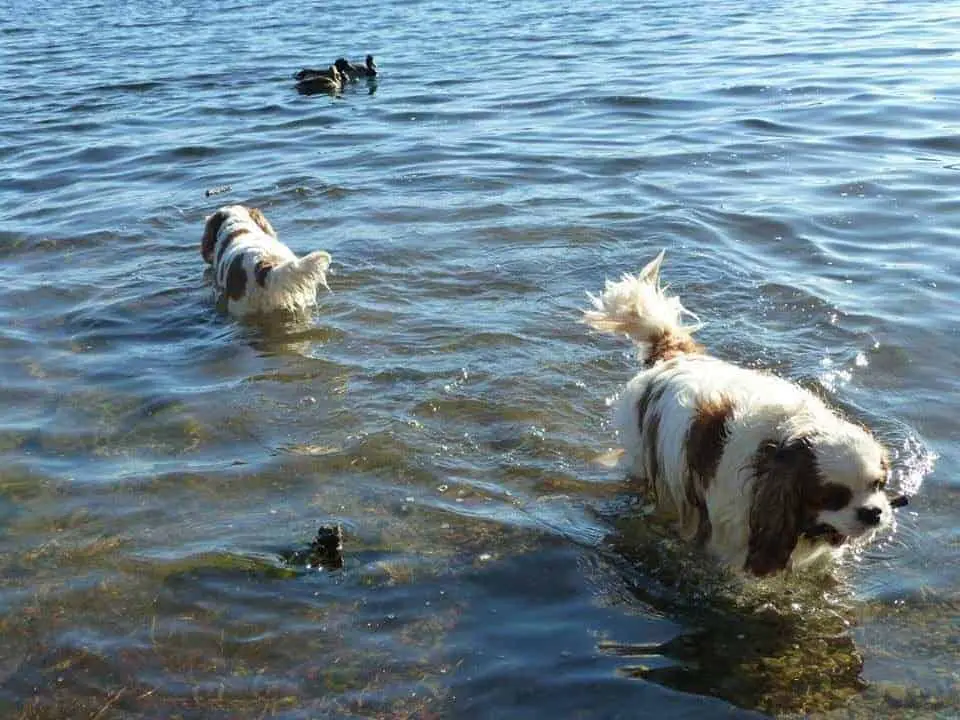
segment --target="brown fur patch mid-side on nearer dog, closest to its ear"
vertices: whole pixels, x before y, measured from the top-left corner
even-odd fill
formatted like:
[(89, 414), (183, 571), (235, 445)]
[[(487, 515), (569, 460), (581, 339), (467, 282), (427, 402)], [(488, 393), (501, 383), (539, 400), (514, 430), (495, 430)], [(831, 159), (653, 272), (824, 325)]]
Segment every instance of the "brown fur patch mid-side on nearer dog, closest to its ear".
[(696, 542), (704, 545), (713, 528), (707, 512), (706, 494), (717, 474), (727, 441), (727, 421), (733, 415), (729, 398), (701, 400), (687, 430), (687, 477), (684, 494), (687, 507), (695, 517), (685, 518), (684, 525), (696, 523)]

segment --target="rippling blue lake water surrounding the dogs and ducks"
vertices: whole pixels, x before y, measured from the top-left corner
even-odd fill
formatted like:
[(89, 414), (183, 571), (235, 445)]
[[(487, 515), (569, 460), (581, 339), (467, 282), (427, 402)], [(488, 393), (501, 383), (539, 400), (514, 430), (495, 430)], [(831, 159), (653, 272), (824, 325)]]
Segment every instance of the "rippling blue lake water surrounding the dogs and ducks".
[[(958, 61), (942, 2), (4, 4), (0, 714), (956, 717)], [(218, 311), (233, 202), (333, 254), (309, 318)], [(891, 448), (835, 580), (594, 462), (636, 361), (579, 311), (661, 248)]]

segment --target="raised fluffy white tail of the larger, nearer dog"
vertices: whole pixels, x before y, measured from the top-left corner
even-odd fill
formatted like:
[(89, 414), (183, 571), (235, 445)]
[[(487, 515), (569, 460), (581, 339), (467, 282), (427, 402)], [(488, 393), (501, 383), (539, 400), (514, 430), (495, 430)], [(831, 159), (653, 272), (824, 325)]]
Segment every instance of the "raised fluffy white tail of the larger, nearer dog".
[[(700, 327), (697, 316), (660, 285), (663, 254), (661, 250), (636, 275), (608, 280), (600, 295), (588, 293), (593, 308), (583, 313), (583, 322), (595, 330), (633, 340), (641, 361), (648, 366), (679, 354), (703, 352), (691, 337)], [(685, 325), (685, 316), (694, 324)]]

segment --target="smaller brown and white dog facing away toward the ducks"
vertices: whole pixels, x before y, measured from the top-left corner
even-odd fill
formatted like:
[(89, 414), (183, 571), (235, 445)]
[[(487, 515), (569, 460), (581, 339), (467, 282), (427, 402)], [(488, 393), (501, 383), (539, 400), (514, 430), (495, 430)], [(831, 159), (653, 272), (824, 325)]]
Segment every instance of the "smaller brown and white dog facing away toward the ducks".
[(316, 303), (319, 286), (327, 287), (330, 253), (297, 258), (256, 208), (229, 205), (208, 217), (200, 254), (213, 265), (232, 315), (303, 310)]

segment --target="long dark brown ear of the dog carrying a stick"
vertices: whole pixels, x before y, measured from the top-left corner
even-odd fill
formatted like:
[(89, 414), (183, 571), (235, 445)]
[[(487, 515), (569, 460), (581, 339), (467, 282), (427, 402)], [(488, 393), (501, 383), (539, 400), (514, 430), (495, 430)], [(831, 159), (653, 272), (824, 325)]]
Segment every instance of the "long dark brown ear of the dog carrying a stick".
[(744, 569), (754, 575), (783, 570), (805, 526), (805, 498), (819, 484), (806, 438), (765, 443), (754, 460), (750, 539)]

